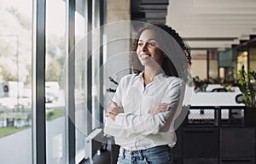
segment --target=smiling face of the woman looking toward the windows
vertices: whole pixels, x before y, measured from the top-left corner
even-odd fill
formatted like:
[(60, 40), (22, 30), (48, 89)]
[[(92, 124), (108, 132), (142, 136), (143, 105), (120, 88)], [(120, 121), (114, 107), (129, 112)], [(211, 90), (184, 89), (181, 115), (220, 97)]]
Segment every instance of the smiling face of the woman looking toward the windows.
[(143, 31), (137, 44), (137, 55), (142, 65), (162, 65), (163, 53), (160, 51), (160, 42), (154, 31)]

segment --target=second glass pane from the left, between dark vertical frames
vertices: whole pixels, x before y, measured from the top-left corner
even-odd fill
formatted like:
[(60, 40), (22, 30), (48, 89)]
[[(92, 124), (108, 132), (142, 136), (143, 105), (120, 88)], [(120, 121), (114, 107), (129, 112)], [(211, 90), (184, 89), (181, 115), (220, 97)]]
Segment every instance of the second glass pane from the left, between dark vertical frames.
[(66, 49), (66, 3), (46, 1), (46, 160), (48, 164), (66, 163), (66, 118), (62, 74)]

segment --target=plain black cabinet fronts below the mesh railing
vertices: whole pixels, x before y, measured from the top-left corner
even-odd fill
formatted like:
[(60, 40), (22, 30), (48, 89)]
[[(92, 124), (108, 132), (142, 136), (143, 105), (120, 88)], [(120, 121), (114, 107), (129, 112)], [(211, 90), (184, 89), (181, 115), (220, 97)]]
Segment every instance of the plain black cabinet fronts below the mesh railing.
[(254, 127), (179, 127), (175, 164), (255, 164)]

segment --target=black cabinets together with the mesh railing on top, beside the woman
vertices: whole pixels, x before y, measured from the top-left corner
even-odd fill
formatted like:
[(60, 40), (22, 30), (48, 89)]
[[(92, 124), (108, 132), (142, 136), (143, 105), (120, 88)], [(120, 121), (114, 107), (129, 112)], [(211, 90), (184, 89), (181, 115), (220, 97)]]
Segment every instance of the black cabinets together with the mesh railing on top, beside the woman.
[(178, 127), (175, 164), (256, 164), (256, 127), (245, 124), (242, 108), (190, 107), (199, 109), (213, 109), (214, 115), (193, 111)]

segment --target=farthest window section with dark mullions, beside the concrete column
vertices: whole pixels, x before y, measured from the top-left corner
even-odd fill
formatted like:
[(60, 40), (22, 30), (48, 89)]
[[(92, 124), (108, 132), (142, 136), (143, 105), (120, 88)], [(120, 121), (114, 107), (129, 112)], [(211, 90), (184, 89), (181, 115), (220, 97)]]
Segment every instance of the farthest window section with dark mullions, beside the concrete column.
[(84, 158), (84, 139), (100, 127), (99, 2), (76, 1), (75, 11), (75, 126), (76, 160)]

